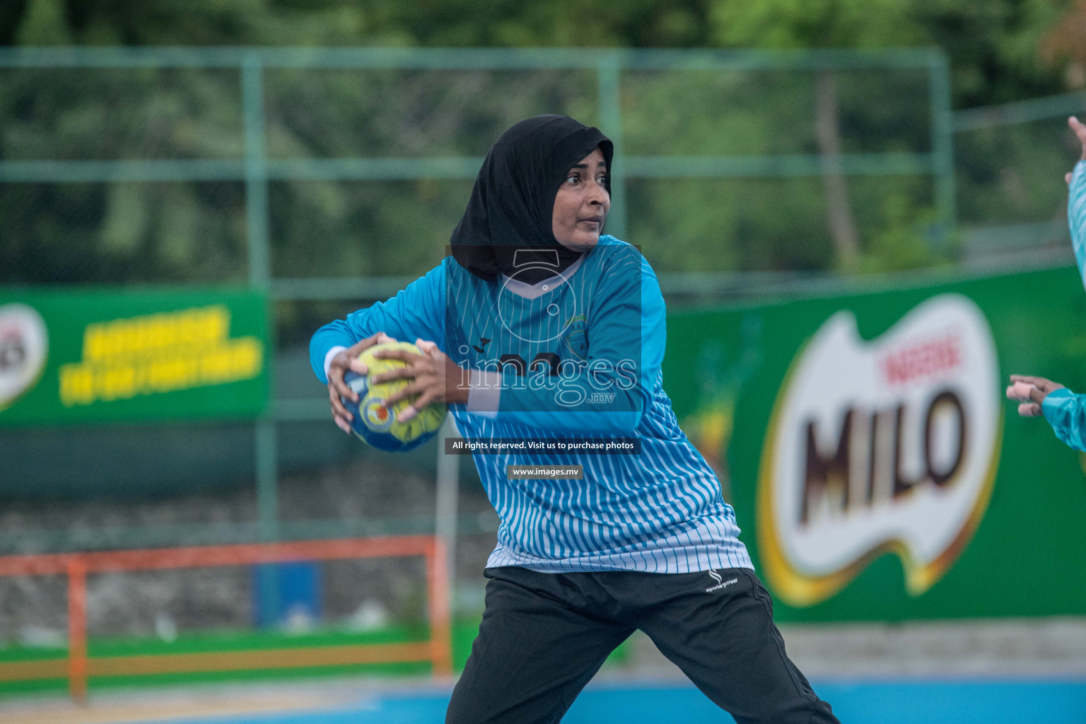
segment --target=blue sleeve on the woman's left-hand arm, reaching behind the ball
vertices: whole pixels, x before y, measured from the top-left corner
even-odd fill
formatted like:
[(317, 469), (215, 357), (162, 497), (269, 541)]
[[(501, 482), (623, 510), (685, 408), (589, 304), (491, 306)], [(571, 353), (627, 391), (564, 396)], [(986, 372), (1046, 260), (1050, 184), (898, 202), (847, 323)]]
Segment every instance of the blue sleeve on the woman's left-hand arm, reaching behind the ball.
[(325, 357), (336, 346), (349, 347), (367, 336), (384, 332), (401, 342), (421, 338), (445, 351), (445, 265), (438, 265), (407, 284), (387, 302), (337, 319), (316, 331), (310, 340), (310, 365), (317, 378), (328, 384)]

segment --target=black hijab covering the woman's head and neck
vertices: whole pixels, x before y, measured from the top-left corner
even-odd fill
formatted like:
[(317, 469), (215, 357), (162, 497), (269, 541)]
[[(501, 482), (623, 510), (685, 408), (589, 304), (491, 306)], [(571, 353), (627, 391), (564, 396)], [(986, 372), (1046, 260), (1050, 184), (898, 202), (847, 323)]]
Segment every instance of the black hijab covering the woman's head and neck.
[(597, 128), (554, 114), (510, 126), (479, 169), (453, 230), (453, 258), (488, 281), (504, 274), (534, 284), (565, 271), (582, 252), (554, 238), (554, 198), (573, 164), (596, 148), (609, 170), (614, 145)]

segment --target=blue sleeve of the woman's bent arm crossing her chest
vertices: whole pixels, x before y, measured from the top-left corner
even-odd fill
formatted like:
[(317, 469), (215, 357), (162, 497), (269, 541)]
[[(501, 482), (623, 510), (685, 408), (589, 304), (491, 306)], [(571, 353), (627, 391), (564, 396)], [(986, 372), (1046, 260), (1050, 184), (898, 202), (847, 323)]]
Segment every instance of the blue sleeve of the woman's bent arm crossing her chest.
[[(557, 376), (505, 374), (495, 419), (543, 431), (631, 434), (653, 404), (667, 340), (659, 282), (633, 247), (589, 305), (589, 354)], [(570, 363), (570, 364), (566, 364)]]

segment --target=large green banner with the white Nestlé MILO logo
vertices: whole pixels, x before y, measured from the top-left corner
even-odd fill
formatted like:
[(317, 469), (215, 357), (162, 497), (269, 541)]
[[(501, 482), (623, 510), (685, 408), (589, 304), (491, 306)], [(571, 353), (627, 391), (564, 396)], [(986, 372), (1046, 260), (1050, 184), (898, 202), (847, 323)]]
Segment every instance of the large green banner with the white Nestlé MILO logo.
[(1086, 614), (1086, 462), (1003, 395), (1086, 392), (1075, 269), (668, 323), (668, 392), (780, 620)]

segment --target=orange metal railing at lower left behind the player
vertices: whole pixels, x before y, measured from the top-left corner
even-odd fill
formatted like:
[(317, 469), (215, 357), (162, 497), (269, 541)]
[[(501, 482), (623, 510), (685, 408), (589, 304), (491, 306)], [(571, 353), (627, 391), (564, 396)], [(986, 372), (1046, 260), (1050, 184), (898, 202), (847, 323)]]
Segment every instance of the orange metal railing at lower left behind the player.
[[(110, 656), (93, 659), (88, 656), (87, 575), (91, 573), (406, 556), (422, 556), (426, 559), (430, 638), (425, 642)], [(434, 536), (404, 535), (0, 557), (0, 576), (12, 575), (67, 575), (68, 655), (66, 660), (0, 663), (0, 682), (58, 678), (66, 674), (68, 690), (79, 701), (86, 699), (89, 676), (294, 669), (401, 661), (430, 661), (434, 675), (452, 674), (449, 569), (444, 544)]]

